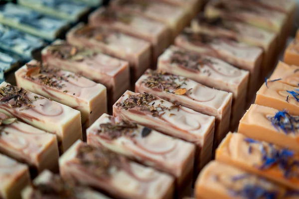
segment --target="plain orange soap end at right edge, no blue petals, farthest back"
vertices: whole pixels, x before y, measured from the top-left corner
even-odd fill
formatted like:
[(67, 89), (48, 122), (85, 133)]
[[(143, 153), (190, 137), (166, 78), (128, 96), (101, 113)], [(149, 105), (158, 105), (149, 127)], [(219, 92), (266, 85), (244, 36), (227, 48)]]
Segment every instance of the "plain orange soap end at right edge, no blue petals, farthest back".
[(294, 39), (285, 51), (284, 62), (299, 66), (299, 40)]

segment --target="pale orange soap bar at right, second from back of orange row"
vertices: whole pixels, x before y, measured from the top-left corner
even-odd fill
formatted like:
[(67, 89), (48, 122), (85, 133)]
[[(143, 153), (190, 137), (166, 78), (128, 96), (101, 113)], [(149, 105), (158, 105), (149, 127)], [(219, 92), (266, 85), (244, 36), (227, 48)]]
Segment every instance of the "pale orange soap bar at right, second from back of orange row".
[(273, 80), (278, 80), (293, 87), (299, 87), (299, 66), (290, 66), (284, 62), (279, 62), (269, 79), (269, 81)]

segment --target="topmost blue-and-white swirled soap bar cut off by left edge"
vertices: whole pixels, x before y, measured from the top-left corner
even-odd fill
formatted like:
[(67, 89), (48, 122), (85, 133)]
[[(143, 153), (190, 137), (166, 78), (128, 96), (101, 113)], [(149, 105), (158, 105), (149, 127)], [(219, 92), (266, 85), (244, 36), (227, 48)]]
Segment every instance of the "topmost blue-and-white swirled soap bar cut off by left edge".
[(47, 40), (55, 39), (68, 27), (67, 20), (44, 15), (13, 3), (0, 5), (0, 23)]

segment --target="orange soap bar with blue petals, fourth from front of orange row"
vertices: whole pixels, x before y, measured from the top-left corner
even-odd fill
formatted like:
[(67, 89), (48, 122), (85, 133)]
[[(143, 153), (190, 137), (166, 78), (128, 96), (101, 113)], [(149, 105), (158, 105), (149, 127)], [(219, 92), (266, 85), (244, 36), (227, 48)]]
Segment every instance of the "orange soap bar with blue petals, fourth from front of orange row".
[(257, 92), (256, 104), (288, 110), (290, 114), (299, 115), (299, 90), (297, 87), (275, 81), (267, 81)]

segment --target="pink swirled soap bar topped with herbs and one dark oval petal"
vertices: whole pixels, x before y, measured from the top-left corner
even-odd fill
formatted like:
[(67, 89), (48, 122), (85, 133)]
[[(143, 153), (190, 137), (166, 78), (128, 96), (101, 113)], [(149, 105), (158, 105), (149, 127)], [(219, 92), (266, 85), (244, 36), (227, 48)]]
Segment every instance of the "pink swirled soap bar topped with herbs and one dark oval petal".
[(168, 173), (175, 177), (177, 195), (191, 193), (195, 157), (195, 146), (191, 143), (108, 114), (103, 114), (87, 129), (87, 143), (107, 147)]

